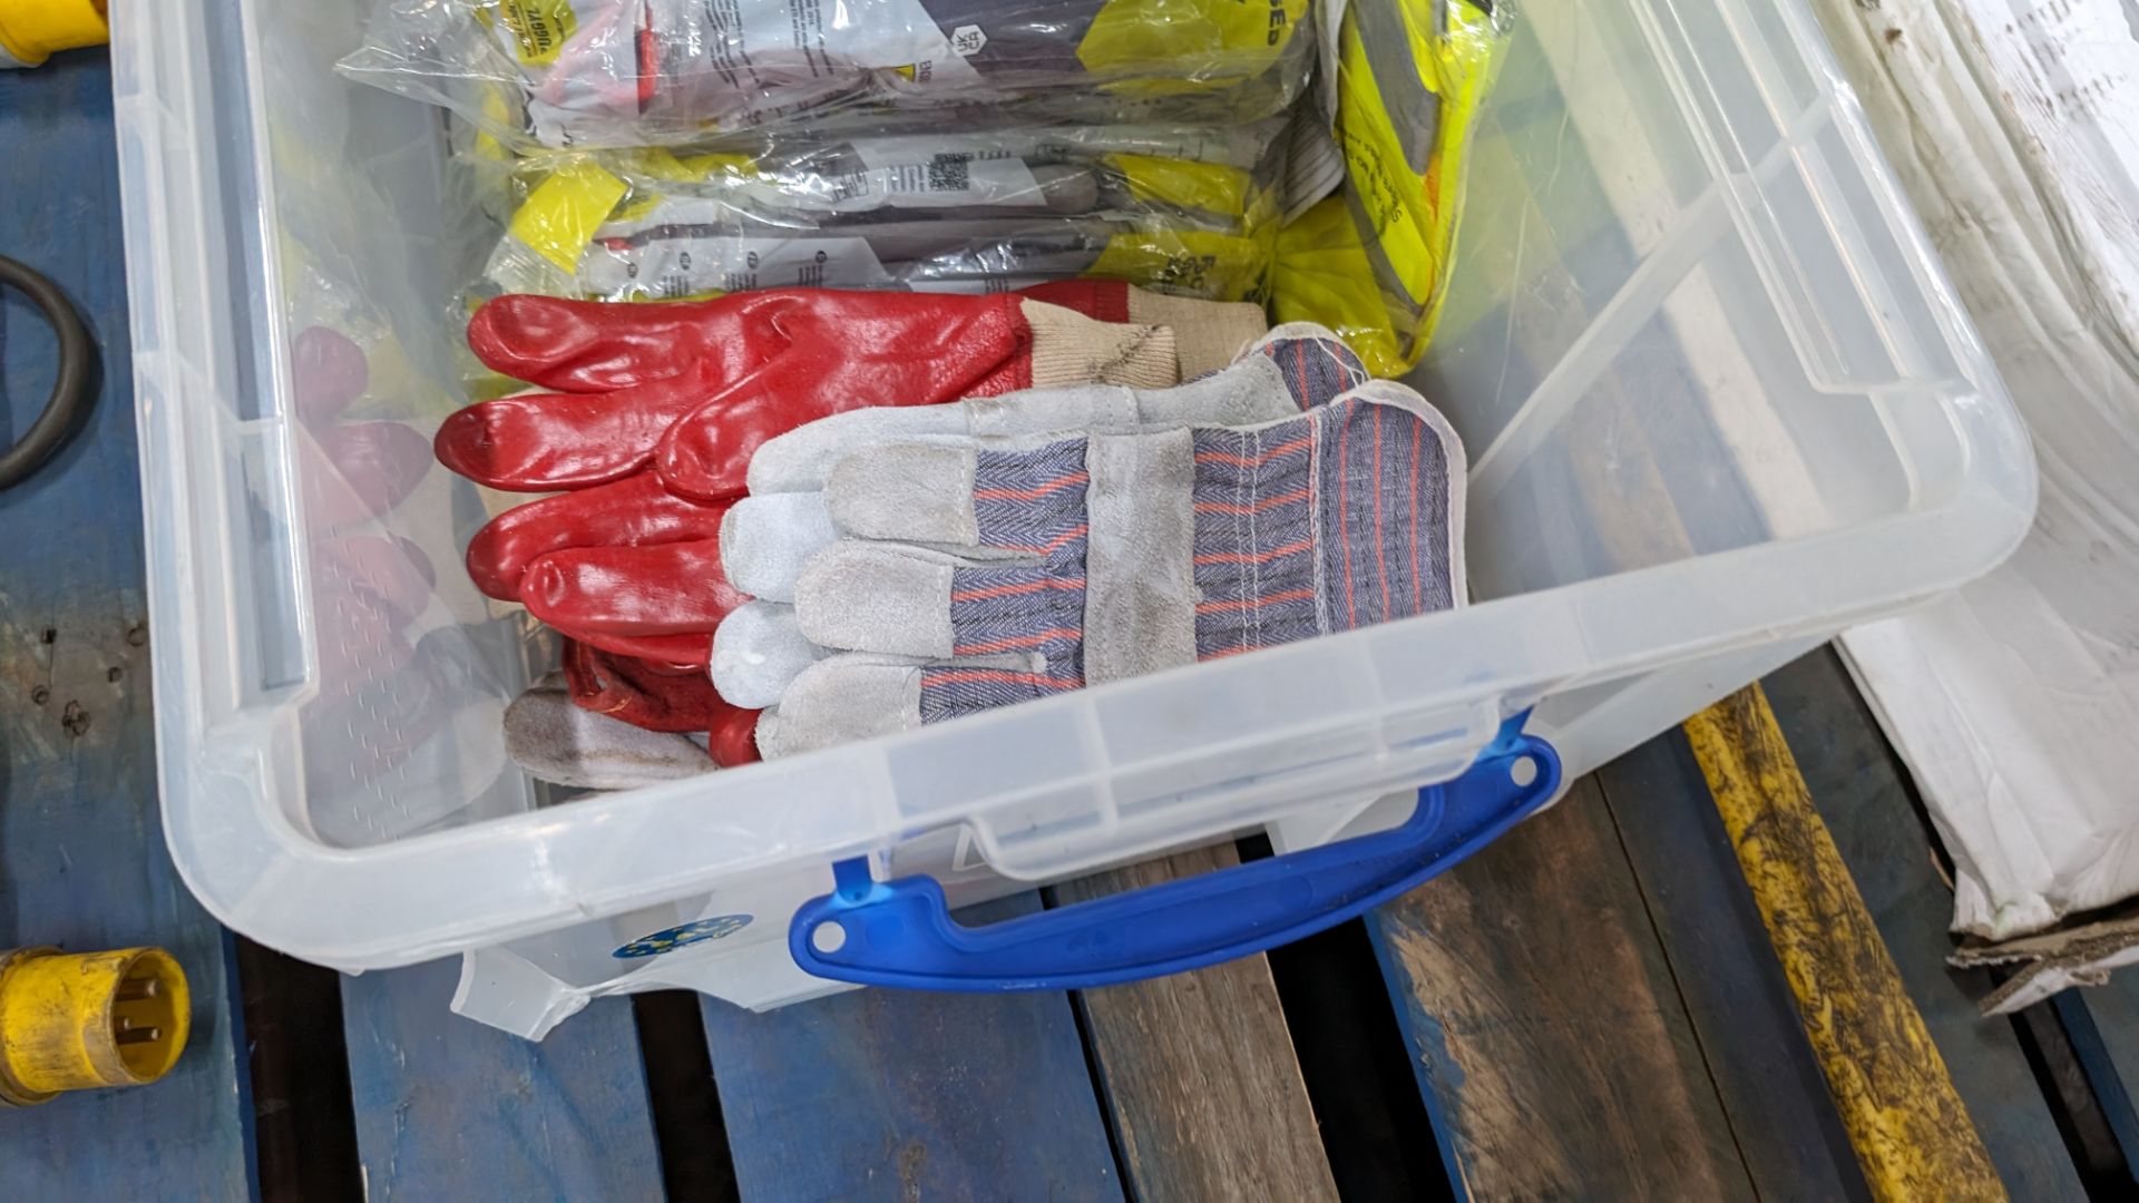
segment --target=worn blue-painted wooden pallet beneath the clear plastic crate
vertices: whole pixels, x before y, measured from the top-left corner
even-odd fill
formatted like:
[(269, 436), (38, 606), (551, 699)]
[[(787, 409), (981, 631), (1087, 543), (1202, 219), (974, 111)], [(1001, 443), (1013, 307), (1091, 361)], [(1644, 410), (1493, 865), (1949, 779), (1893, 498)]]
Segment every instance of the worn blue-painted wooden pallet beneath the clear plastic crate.
[[(0, 946), (163, 944), (197, 989), (167, 1081), (0, 1115), (0, 1199), (1884, 1190), (1748, 888), (1743, 833), (1679, 732), (1365, 923), (1104, 991), (866, 991), (772, 1015), (642, 995), (528, 1045), (453, 1017), (447, 963), (338, 978), (231, 938), (175, 880), (156, 816), (101, 60), (0, 75), (0, 146), (19, 182), (0, 253), (36, 248), (105, 347), (90, 428), (0, 494)], [(32, 323), (0, 317), (6, 379), (49, 372)], [(1899, 983), (1810, 1002), (1921, 1015), (2013, 1194), (2130, 1190), (2135, 987), (1976, 1019), (1991, 983), (1944, 965), (1936, 846), (1840, 668), (1816, 653), (1767, 698)]]

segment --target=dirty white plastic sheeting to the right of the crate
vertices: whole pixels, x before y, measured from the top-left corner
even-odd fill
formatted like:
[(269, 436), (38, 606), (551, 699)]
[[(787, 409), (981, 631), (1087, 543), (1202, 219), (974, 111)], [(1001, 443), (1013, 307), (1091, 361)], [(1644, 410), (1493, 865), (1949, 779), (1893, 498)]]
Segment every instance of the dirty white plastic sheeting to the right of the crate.
[(2139, 961), (2139, 918), (2068, 920), (2139, 895), (2139, 13), (1814, 9), (2041, 462), (2013, 561), (1842, 640), (1953, 852), (1964, 957), (2021, 968), (2006, 1010)]

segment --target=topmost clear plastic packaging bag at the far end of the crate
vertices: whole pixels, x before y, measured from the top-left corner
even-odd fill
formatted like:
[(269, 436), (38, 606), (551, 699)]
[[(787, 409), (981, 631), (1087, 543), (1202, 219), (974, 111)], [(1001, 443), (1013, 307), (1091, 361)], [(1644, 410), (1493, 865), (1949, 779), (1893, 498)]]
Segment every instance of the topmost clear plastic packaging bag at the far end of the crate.
[(958, 103), (1258, 120), (1307, 0), (381, 0), (342, 71), (552, 148), (684, 146)]

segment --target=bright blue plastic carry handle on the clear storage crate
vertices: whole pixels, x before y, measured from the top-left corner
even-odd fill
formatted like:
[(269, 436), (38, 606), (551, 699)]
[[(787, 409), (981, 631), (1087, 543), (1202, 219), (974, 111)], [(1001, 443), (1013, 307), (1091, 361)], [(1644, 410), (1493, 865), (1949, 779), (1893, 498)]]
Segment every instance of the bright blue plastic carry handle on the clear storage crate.
[[(1262, 953), (1418, 886), (1551, 801), (1559, 753), (1523, 734), (1525, 717), (1461, 777), (1420, 790), (1392, 831), (986, 927), (956, 923), (933, 878), (875, 882), (866, 858), (841, 861), (834, 890), (796, 912), (787, 948), (819, 978), (943, 991), (1102, 987)], [(821, 950), (828, 925), (834, 948)]]

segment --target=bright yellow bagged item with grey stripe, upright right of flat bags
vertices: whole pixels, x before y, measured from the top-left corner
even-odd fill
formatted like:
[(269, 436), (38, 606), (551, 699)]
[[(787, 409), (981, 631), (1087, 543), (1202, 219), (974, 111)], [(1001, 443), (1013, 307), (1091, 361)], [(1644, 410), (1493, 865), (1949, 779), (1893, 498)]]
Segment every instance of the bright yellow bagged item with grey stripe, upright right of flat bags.
[(1322, 73), (1343, 184), (1279, 231), (1277, 321), (1337, 330), (1382, 377), (1418, 364), (1448, 291), (1478, 107), (1512, 21), (1508, 0), (1343, 9)]

